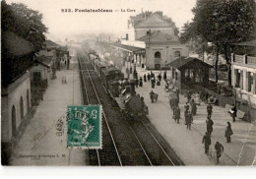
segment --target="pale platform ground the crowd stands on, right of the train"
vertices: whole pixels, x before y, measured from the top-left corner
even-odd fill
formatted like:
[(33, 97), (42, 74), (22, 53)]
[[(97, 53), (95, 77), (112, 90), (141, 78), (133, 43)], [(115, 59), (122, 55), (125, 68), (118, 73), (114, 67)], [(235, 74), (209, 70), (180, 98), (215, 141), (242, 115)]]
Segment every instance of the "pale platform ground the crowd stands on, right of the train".
[[(137, 67), (138, 77), (150, 73), (145, 69)], [(160, 71), (153, 71), (156, 76)], [(161, 71), (161, 75), (163, 71)], [(170, 74), (167, 72), (167, 77)], [(130, 76), (132, 77), (132, 75)], [(184, 105), (186, 97), (179, 96), (179, 107), (181, 109), (180, 124), (172, 119), (172, 110), (168, 104), (168, 93), (164, 91), (164, 81), (160, 86), (156, 86), (154, 92), (159, 93), (159, 100), (152, 103), (150, 99), (151, 83), (143, 83), (142, 88), (137, 88), (136, 92), (144, 96), (146, 104), (149, 106), (148, 118), (155, 128), (160, 132), (169, 146), (175, 150), (176, 154), (183, 160), (185, 165), (215, 165), (214, 158), (206, 155), (202, 144), (203, 135), (206, 132), (207, 104), (201, 103), (197, 107), (197, 115), (194, 116), (191, 131), (186, 129), (184, 122)], [(230, 115), (226, 109), (214, 105), (212, 119), (214, 121), (214, 131), (212, 133), (212, 145), (210, 149), (214, 151), (216, 142), (224, 146), (224, 154), (220, 158), (220, 165), (256, 165), (256, 126), (242, 120), (232, 123)], [(231, 143), (226, 143), (224, 130), (226, 122), (231, 123), (233, 135)]]

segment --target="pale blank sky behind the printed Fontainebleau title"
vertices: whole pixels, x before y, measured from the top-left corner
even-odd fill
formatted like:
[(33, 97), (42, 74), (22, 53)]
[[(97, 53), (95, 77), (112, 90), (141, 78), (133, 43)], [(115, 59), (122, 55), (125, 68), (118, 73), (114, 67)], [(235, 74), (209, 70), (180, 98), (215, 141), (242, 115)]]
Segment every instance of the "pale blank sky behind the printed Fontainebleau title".
[[(24, 3), (43, 15), (43, 24), (48, 28), (47, 37), (63, 38), (84, 32), (113, 32), (125, 35), (127, 21), (142, 11), (162, 11), (181, 30), (191, 21), (191, 9), (196, 0), (6, 0)], [(73, 13), (62, 12), (71, 9)], [(112, 13), (75, 12), (76, 9), (107, 9)], [(125, 10), (125, 12), (121, 12)], [(128, 12), (128, 9), (135, 10)]]

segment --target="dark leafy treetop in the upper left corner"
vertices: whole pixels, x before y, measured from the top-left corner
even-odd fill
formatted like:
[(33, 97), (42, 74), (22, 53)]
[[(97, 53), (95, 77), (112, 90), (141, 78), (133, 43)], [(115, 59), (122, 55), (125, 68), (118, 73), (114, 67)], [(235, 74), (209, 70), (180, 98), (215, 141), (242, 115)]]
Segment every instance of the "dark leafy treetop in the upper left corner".
[(1, 30), (10, 30), (32, 42), (36, 50), (41, 49), (45, 41), (47, 28), (42, 24), (42, 14), (22, 3), (6, 4), (1, 2)]

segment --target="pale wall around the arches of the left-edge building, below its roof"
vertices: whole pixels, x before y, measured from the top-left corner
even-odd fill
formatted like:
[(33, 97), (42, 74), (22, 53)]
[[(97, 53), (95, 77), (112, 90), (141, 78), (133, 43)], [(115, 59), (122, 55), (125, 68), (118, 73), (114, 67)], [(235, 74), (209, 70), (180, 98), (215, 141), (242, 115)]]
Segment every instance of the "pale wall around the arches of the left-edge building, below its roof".
[[(27, 90), (29, 89), (29, 103), (31, 106), (31, 79), (30, 72), (27, 72), (20, 79), (16, 80), (13, 84), (9, 85), (4, 91), (2, 96), (2, 142), (10, 142), (12, 139), (12, 108), (15, 106), (16, 109), (16, 130), (19, 135), (18, 128), (21, 125), (21, 106), (20, 98), (23, 97), (24, 103), (24, 116), (28, 114), (29, 107), (27, 102)], [(2, 92), (3, 93), (3, 92)], [(4, 129), (4, 130), (3, 130)]]

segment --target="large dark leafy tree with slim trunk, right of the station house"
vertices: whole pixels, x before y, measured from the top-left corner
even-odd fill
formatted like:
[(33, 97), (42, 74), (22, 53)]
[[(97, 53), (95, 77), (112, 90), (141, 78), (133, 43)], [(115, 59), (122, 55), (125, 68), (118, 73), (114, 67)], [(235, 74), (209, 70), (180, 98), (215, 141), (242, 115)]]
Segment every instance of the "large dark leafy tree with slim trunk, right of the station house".
[[(193, 34), (204, 41), (213, 42), (218, 54), (223, 54), (231, 86), (230, 53), (232, 43), (253, 37), (256, 30), (256, 4), (254, 0), (197, 0), (192, 10)], [(191, 30), (191, 29), (188, 29)], [(188, 34), (191, 31), (187, 32)]]

